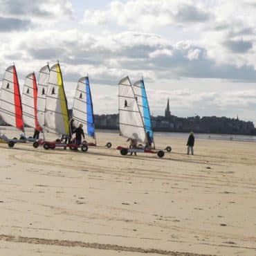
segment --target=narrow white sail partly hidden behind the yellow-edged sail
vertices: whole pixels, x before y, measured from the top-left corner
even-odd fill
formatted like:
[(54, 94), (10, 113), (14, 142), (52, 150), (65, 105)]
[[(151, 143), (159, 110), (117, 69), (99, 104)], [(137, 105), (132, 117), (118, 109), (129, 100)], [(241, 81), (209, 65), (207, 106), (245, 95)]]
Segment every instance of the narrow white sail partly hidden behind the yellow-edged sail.
[(48, 88), (48, 80), (50, 75), (50, 68), (47, 64), (39, 71), (38, 89), (37, 89), (37, 119), (41, 127), (45, 126), (44, 116), (46, 109), (46, 93)]

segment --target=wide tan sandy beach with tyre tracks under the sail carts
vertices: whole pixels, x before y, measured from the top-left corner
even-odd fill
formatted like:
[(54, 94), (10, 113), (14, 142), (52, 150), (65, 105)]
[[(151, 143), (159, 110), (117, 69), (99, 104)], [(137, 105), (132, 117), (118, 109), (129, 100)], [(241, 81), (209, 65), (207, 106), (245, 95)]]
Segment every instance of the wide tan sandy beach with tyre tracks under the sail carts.
[(256, 255), (255, 143), (155, 140), (172, 153), (0, 144), (0, 255)]

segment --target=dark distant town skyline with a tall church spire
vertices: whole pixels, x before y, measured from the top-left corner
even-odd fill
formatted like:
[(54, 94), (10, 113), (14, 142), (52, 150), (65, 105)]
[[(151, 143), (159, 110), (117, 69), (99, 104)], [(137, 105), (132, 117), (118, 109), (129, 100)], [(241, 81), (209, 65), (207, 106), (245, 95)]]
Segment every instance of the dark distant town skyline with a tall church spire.
[[(68, 110), (69, 116), (72, 116), (72, 110)], [(97, 129), (119, 129), (118, 114), (94, 115), (95, 128)], [(225, 116), (192, 116), (188, 118), (179, 118), (173, 116), (170, 111), (170, 100), (167, 100), (165, 116), (152, 116), (152, 129), (154, 131), (176, 131), (205, 134), (243, 134), (256, 135), (256, 129), (253, 122), (246, 122), (237, 118), (226, 118)], [(0, 124), (4, 122), (0, 119)]]

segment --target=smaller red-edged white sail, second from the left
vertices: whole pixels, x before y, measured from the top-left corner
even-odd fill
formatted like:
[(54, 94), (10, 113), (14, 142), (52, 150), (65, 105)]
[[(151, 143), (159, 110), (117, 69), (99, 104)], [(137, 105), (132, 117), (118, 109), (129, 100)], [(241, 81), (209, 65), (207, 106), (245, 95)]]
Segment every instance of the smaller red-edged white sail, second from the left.
[(35, 73), (26, 76), (21, 99), (24, 124), (41, 131), (42, 128), (37, 120), (37, 81)]

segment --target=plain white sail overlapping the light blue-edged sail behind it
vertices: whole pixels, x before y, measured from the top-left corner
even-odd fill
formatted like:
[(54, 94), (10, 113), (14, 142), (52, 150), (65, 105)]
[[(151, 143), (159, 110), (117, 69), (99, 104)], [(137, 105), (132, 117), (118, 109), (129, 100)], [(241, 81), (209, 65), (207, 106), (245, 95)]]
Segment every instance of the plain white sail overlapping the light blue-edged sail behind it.
[(126, 138), (134, 138), (138, 142), (146, 144), (147, 136), (145, 134), (143, 118), (138, 109), (138, 103), (129, 77), (120, 80), (118, 85), (120, 134)]

